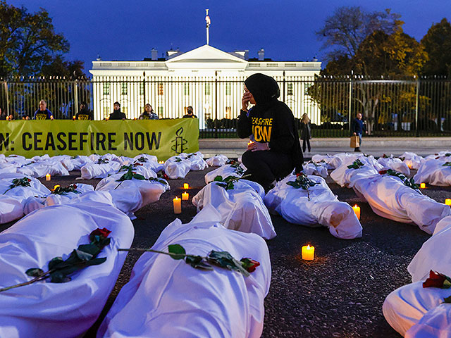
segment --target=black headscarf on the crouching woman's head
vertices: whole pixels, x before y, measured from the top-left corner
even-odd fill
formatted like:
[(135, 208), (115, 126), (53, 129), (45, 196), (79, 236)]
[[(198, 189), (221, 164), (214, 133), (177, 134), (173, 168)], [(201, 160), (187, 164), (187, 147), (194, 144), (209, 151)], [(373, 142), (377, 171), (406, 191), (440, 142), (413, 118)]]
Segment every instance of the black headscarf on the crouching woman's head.
[(245, 84), (247, 90), (254, 96), (255, 108), (267, 108), (280, 96), (279, 86), (271, 76), (261, 73), (253, 74), (247, 77)]

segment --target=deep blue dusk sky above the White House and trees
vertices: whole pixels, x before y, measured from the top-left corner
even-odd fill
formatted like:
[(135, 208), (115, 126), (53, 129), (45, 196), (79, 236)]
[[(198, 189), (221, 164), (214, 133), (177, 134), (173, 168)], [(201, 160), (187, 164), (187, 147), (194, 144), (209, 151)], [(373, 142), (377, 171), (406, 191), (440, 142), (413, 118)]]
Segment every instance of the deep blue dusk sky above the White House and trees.
[[(189, 51), (206, 43), (205, 8), (211, 18), (210, 44), (223, 51), (249, 49), (250, 57), (265, 49), (276, 61), (305, 61), (324, 51), (315, 32), (338, 6), (366, 11), (391, 8), (401, 14), (404, 32), (420, 40), (433, 23), (451, 20), (450, 0), (7, 0), (28, 11), (45, 8), (56, 32), (70, 42), (66, 58), (91, 68), (103, 60), (142, 60), (155, 48)], [(324, 65), (323, 65), (324, 66)]]

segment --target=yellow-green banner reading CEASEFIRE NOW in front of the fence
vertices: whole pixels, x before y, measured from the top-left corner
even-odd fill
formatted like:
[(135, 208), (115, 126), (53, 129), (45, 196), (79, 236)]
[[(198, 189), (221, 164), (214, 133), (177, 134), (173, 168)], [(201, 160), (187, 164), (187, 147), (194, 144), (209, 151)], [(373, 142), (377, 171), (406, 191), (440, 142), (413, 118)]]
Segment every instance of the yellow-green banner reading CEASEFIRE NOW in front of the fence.
[(152, 154), (161, 160), (199, 150), (197, 118), (173, 120), (0, 121), (0, 154)]

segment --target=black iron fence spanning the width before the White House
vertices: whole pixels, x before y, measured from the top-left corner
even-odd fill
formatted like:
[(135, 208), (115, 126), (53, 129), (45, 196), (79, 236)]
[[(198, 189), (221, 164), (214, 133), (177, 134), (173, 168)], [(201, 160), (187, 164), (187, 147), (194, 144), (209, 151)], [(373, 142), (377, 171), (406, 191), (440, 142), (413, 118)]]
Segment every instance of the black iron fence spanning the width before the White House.
[[(371, 136), (451, 135), (451, 80), (347, 77), (275, 77), (280, 100), (295, 118), (307, 113), (313, 137), (348, 137), (360, 112)], [(245, 77), (16, 77), (0, 80), (0, 106), (13, 118), (34, 115), (39, 101), (57, 119), (73, 118), (82, 101), (96, 120), (121, 103), (128, 118), (151, 104), (159, 118), (181, 118), (192, 106), (200, 137), (236, 137)]]

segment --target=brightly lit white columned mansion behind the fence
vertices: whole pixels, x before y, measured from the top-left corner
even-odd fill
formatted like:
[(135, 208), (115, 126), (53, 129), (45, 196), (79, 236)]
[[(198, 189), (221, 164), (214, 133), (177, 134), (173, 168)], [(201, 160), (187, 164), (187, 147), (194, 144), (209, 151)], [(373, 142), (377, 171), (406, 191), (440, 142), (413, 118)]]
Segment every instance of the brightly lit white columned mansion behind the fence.
[(205, 44), (192, 51), (168, 51), (166, 58), (144, 61), (92, 61), (94, 117), (101, 120), (121, 103), (128, 118), (137, 118), (149, 103), (161, 118), (180, 118), (194, 108), (201, 128), (206, 120), (236, 118), (240, 112), (243, 81), (254, 73), (273, 76), (280, 85), (280, 100), (297, 118), (308, 113), (319, 123), (319, 109), (306, 90), (321, 70), (319, 61), (272, 61), (249, 58), (249, 51), (225, 52)]

